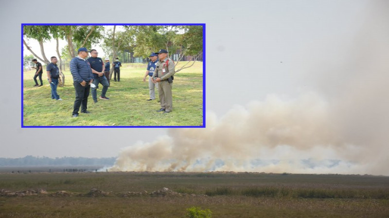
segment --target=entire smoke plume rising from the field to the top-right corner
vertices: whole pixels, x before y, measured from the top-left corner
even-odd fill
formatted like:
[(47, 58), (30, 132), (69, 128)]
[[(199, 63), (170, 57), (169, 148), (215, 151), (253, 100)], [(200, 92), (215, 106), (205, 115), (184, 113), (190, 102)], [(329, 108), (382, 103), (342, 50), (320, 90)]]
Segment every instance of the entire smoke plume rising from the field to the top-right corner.
[(368, 6), (352, 34), (301, 53), (303, 94), (208, 112), (205, 129), (126, 147), (110, 170), (389, 175), (389, 3)]

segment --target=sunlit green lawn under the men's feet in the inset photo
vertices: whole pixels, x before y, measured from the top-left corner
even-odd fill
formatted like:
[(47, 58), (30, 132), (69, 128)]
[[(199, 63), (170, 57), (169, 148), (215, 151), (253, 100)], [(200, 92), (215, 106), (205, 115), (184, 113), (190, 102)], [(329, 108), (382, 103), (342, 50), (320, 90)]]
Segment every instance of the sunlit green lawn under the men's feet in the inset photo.
[[(180, 62), (180, 65), (186, 62)], [(148, 81), (142, 81), (146, 65), (124, 63), (120, 72), (120, 82), (114, 82), (106, 96), (110, 100), (93, 103), (92, 94), (88, 98), (90, 114), (80, 113), (72, 118), (75, 100), (73, 79), (70, 71), (64, 71), (65, 86), (58, 87), (57, 93), (63, 101), (51, 99), (51, 89), (47, 76), (43, 74), (43, 86), (34, 87), (35, 71), (23, 73), (23, 125), (25, 126), (200, 126), (203, 123), (203, 65), (202, 62), (175, 75), (173, 82), (173, 112), (156, 112), (160, 108), (157, 100), (149, 99)], [(45, 66), (43, 66), (45, 68)], [(69, 70), (69, 68), (66, 68)], [(38, 81), (39, 82), (39, 81)], [(101, 94), (99, 84), (97, 96)], [(156, 90), (158, 98), (158, 91)], [(79, 111), (80, 112), (80, 111)]]

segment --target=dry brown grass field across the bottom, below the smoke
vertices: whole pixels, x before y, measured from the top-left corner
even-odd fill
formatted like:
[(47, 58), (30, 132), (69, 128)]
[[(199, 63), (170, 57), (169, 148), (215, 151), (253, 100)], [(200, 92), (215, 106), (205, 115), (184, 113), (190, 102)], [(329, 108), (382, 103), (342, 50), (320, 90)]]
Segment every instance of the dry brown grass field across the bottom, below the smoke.
[(171, 218), (192, 206), (223, 218), (389, 216), (386, 176), (24, 172), (1, 173), (0, 190), (0, 217)]

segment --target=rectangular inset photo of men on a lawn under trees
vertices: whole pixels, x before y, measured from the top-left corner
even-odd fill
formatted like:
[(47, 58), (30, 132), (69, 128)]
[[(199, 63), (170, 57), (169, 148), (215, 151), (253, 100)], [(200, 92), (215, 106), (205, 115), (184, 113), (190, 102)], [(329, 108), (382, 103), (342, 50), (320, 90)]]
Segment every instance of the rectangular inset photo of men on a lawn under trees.
[(22, 127), (205, 127), (205, 24), (21, 27)]

